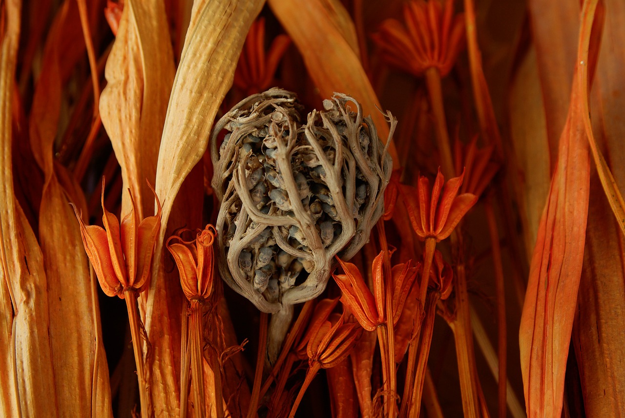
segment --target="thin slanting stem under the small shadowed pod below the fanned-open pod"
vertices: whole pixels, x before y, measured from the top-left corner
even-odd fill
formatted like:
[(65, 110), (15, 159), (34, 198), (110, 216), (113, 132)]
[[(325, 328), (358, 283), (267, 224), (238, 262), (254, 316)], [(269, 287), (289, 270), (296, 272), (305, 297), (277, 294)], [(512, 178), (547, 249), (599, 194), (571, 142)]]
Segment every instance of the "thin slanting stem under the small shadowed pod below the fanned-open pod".
[(438, 292), (429, 292), (425, 306), (426, 317), (422, 326), (422, 337), (419, 344), (419, 361), (417, 362), (417, 372), (414, 379), (412, 391), (411, 412), (409, 416), (419, 417), (421, 413), (421, 396), (427, 371), (427, 357), (432, 344), (432, 332), (434, 331), (434, 319), (436, 318), (436, 304), (440, 299)]

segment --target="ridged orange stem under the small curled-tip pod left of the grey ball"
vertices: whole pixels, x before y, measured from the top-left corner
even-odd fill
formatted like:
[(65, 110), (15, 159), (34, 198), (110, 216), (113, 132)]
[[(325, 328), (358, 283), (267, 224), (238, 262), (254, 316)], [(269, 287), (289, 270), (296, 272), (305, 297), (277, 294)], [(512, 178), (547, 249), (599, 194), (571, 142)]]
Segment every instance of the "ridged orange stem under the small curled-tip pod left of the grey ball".
[(189, 318), (189, 331), (191, 342), (191, 381), (193, 407), (196, 417), (206, 416), (206, 398), (204, 397), (204, 326), (202, 324), (202, 306), (199, 301), (191, 301), (191, 317)]

